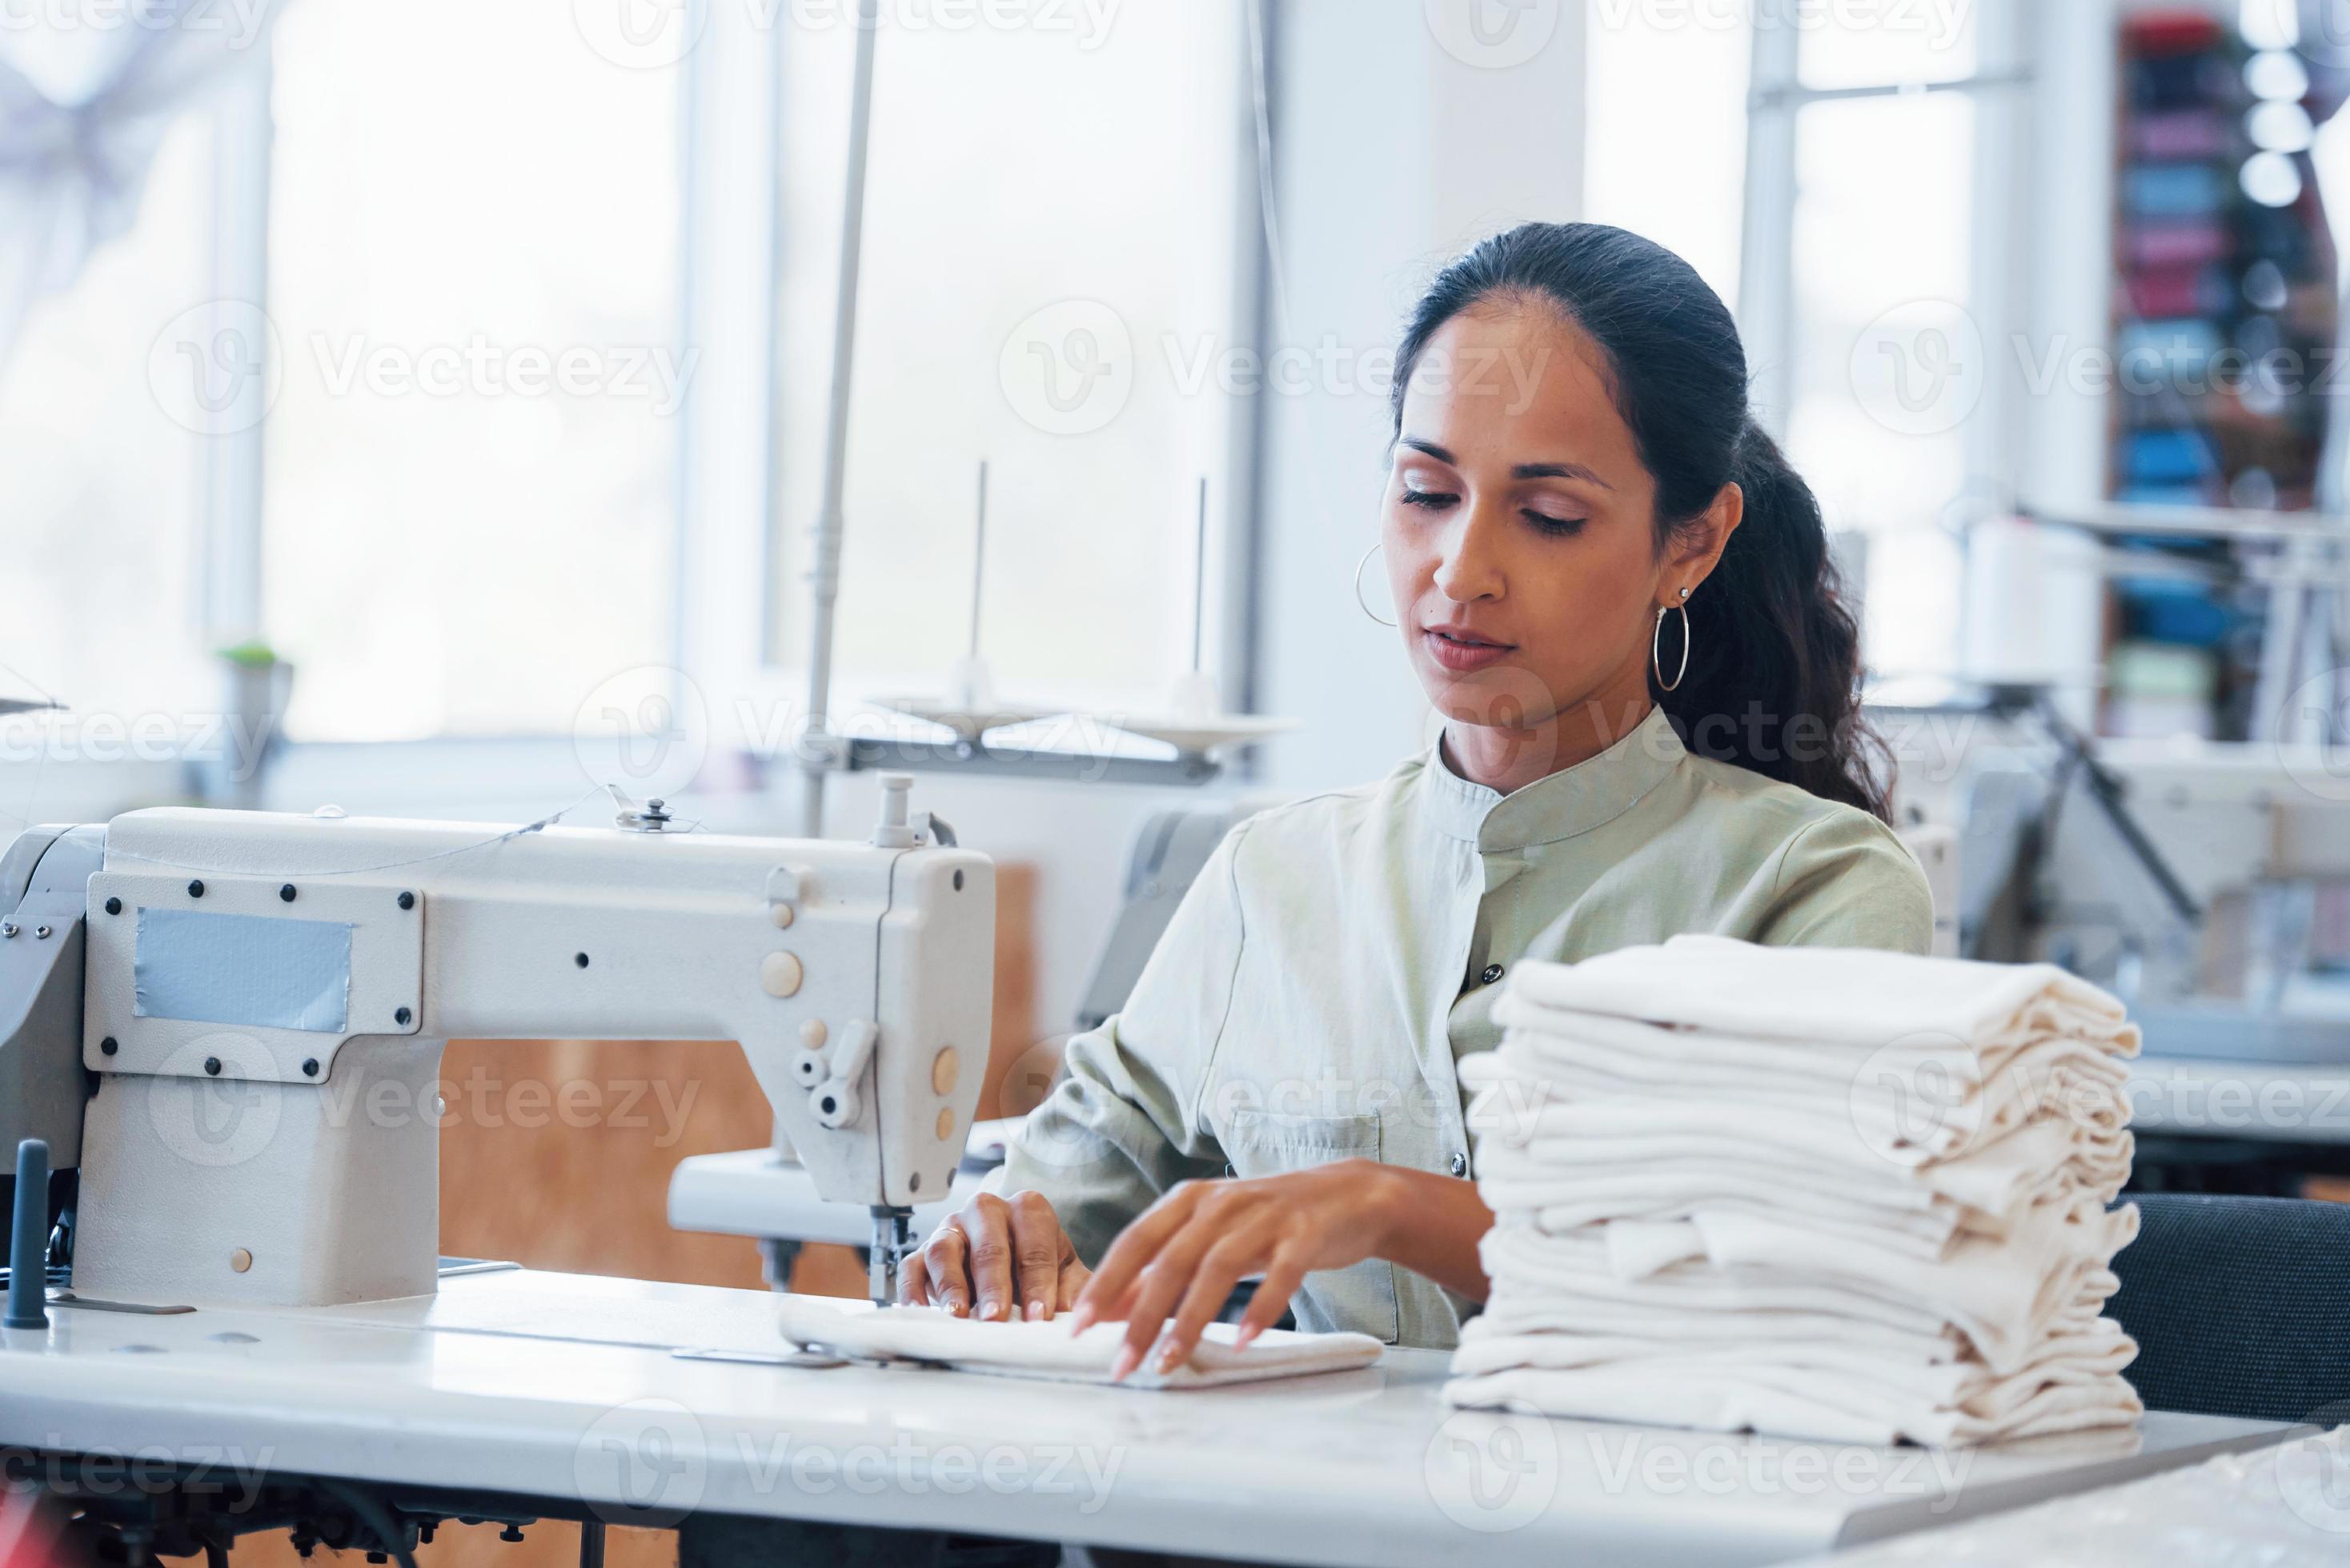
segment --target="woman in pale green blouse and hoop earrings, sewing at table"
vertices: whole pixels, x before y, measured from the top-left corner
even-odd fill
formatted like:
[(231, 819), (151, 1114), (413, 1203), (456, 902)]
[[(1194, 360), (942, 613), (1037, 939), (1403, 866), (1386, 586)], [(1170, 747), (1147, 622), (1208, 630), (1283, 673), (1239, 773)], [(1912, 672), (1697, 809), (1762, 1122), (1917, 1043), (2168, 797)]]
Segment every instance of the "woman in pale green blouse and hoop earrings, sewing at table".
[[(1676, 932), (1927, 951), (1819, 505), (1746, 406), (1720, 298), (1614, 228), (1455, 261), (1396, 361), (1379, 545), (1443, 735), (1260, 812), (1126, 1012), (1069, 1042), (907, 1300), (1452, 1345), (1485, 1296), (1455, 1061), (1525, 958)], [(1090, 1265), (1090, 1270), (1088, 1270)]]

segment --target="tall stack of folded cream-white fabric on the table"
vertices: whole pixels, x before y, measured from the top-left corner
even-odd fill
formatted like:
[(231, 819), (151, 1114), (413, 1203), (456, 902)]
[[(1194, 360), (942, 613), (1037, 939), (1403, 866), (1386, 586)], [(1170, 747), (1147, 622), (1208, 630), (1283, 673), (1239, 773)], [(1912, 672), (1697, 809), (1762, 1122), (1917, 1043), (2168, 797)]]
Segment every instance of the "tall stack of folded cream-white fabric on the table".
[(1445, 1397), (1861, 1444), (2138, 1415), (2122, 1005), (2052, 965), (1676, 937), (1523, 962)]

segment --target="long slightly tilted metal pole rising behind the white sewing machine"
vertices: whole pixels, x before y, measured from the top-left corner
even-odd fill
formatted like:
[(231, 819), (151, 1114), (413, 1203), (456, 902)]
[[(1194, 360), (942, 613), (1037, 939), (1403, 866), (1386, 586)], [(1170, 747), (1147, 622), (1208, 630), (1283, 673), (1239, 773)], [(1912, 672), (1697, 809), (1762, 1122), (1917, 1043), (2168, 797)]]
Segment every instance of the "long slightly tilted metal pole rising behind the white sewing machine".
[(848, 108), (848, 192), (841, 202), (841, 279), (832, 307), (832, 401), (825, 413), (825, 500), (815, 519), (815, 552), (808, 566), (813, 601), (808, 634), (808, 730), (801, 746), (806, 791), (801, 836), (825, 833), (825, 772), (832, 768), (822, 735), (832, 707), (832, 606), (841, 596), (841, 493), (848, 486), (848, 383), (858, 347), (858, 268), (865, 246), (865, 155), (874, 117), (874, 35), (881, 31), (879, 0), (858, 5), (855, 94)]

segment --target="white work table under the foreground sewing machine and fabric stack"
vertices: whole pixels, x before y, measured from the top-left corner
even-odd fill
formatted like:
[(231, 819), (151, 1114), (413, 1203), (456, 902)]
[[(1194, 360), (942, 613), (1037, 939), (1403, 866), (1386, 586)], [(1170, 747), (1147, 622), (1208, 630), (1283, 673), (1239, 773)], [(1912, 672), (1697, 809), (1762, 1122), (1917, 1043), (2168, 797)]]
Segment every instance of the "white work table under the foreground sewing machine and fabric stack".
[[(52, 1305), (0, 1333), (0, 1444), (416, 1488), (1288, 1563), (1767, 1563), (2280, 1439), (1929, 1453), (1455, 1413), (1445, 1357), (1140, 1392), (780, 1354), (761, 1291), (524, 1270), (327, 1310)], [(625, 1514), (649, 1507), (653, 1519)]]

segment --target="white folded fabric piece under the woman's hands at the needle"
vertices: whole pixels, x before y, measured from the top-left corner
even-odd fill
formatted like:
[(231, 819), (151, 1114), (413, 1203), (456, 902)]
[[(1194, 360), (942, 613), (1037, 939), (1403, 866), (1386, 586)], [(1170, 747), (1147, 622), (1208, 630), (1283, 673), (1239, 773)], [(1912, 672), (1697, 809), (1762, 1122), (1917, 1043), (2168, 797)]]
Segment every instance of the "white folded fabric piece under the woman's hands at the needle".
[[(818, 1343), (855, 1357), (942, 1361), (959, 1371), (1053, 1383), (1109, 1383), (1119, 1345), (1126, 1343), (1126, 1324), (1093, 1324), (1083, 1333), (1069, 1333), (1067, 1319), (987, 1322), (938, 1307), (874, 1307), (830, 1296), (780, 1296), (776, 1322), (794, 1345)], [(1236, 1350), (1236, 1333), (1234, 1324), (1208, 1324), (1182, 1366), (1161, 1373), (1154, 1357), (1144, 1357), (1119, 1387), (1182, 1390), (1351, 1371), (1370, 1366), (1384, 1350), (1368, 1333), (1288, 1329), (1267, 1329), (1246, 1350)]]

